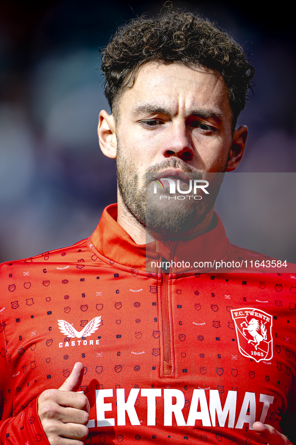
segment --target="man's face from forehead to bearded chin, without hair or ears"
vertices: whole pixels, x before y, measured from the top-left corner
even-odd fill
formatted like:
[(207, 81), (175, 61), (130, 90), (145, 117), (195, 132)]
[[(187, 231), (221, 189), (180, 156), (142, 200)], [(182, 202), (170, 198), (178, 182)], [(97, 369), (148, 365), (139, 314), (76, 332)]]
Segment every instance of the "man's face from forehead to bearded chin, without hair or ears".
[[(145, 177), (155, 173), (177, 179), (178, 173), (187, 172), (205, 178), (205, 173), (225, 172), (232, 111), (223, 77), (202, 67), (149, 63), (123, 93), (118, 111), (118, 183), (128, 211), (142, 225), (166, 234), (202, 222), (213, 208), (223, 175), (216, 175), (207, 201), (174, 203), (156, 201), (152, 183), (146, 196)], [(188, 181), (183, 185), (188, 189)]]

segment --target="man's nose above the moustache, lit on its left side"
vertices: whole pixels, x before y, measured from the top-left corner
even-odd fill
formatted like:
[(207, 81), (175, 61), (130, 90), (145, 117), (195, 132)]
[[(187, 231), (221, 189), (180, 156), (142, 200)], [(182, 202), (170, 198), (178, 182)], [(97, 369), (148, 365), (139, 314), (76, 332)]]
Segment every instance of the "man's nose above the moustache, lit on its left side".
[(162, 146), (162, 155), (165, 158), (175, 156), (184, 161), (190, 161), (193, 158), (194, 150), (192, 141), (185, 124), (172, 124), (172, 126), (168, 128)]

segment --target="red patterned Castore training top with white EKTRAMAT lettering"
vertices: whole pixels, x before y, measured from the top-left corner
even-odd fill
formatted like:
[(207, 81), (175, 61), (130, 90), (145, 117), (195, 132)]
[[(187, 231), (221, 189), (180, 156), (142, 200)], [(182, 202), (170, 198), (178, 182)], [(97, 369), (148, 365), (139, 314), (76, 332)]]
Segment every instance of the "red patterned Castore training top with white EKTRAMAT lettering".
[[(230, 244), (219, 219), (191, 244), (264, 258)], [(85, 443), (251, 445), (253, 421), (294, 421), (296, 274), (149, 273), (145, 255), (112, 205), (89, 240), (2, 264), (2, 443), (49, 443), (37, 397), (77, 361)]]

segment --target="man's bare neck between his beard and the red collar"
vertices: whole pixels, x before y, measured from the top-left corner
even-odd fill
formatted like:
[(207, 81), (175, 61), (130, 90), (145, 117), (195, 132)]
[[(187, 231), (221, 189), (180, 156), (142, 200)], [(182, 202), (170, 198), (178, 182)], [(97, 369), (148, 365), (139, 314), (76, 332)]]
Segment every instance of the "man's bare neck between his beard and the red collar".
[[(130, 235), (130, 237), (135, 241), (136, 244), (147, 244), (149, 242), (154, 241), (156, 238), (163, 239), (162, 236), (158, 237), (157, 234), (151, 235), (148, 231), (146, 231), (145, 227), (140, 224), (136, 218), (127, 210), (125, 205), (122, 202), (121, 196), (118, 194), (118, 213), (117, 213), (117, 222), (118, 224)], [(212, 218), (213, 218), (214, 207), (210, 209), (207, 213), (205, 219), (201, 224), (198, 224), (194, 229), (177, 236), (171, 236), (171, 240), (182, 240), (188, 241), (190, 239), (196, 238), (199, 235), (202, 235), (205, 232), (211, 230), (212, 227)], [(214, 222), (214, 221), (213, 221)]]

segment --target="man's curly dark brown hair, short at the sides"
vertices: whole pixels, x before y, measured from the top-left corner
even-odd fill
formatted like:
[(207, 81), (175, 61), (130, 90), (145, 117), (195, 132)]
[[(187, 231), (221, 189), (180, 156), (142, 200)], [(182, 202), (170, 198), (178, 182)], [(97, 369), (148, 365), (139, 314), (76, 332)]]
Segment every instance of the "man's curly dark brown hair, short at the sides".
[(225, 80), (233, 129), (244, 108), (254, 68), (244, 50), (225, 31), (198, 14), (165, 7), (155, 18), (145, 15), (121, 26), (102, 50), (105, 96), (116, 115), (119, 98), (132, 87), (141, 66), (149, 62), (203, 66)]

